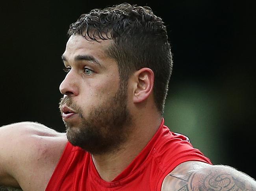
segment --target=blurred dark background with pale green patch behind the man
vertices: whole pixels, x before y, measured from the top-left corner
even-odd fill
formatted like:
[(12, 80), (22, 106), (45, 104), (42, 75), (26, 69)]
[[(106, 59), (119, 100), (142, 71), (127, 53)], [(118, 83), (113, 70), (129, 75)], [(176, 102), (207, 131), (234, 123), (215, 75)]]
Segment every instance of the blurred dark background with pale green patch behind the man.
[[(69, 24), (123, 1), (2, 2), (0, 126), (36, 121), (64, 131), (58, 102)], [(255, 1), (126, 1), (167, 25), (174, 56), (165, 121), (214, 164), (256, 178)]]

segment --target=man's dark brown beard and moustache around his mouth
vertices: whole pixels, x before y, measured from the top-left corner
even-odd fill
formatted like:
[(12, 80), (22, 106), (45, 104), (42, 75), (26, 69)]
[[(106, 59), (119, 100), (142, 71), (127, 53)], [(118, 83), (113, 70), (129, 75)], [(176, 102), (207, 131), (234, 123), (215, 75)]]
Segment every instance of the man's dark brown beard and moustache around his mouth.
[(80, 117), (80, 122), (64, 122), (67, 139), (73, 146), (101, 155), (118, 151), (128, 139), (132, 116), (127, 108), (126, 89), (119, 88), (115, 96), (92, 107), (86, 117), (83, 116), (81, 107), (72, 102), (71, 97), (62, 98), (59, 108), (63, 104), (77, 111)]

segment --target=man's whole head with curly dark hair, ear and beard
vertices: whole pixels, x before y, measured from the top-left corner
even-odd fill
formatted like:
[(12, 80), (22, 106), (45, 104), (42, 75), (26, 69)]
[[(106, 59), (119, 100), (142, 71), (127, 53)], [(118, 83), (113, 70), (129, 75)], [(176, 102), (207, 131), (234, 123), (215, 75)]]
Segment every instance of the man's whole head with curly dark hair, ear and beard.
[(60, 85), (67, 137), (93, 154), (113, 152), (142, 110), (162, 114), (172, 67), (165, 26), (149, 7), (121, 4), (80, 16), (68, 33)]

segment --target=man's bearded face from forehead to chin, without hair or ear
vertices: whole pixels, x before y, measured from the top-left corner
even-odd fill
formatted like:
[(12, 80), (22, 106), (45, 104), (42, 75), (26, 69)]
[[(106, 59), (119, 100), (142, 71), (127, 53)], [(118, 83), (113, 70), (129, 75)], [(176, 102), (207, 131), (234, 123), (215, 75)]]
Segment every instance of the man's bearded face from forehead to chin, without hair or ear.
[(60, 110), (67, 138), (95, 155), (120, 149), (132, 125), (128, 89), (120, 85), (117, 62), (105, 53), (110, 43), (72, 35), (62, 55), (67, 75)]

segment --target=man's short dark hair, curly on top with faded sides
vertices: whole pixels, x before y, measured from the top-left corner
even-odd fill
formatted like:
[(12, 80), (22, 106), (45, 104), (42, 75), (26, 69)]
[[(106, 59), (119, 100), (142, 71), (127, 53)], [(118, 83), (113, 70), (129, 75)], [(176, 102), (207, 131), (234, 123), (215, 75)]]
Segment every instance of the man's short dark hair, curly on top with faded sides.
[(70, 25), (68, 35), (76, 34), (87, 40), (112, 40), (107, 54), (118, 63), (121, 85), (127, 85), (135, 71), (152, 69), (154, 101), (163, 115), (173, 62), (166, 26), (150, 7), (124, 3), (93, 9)]

